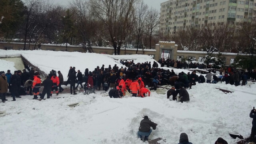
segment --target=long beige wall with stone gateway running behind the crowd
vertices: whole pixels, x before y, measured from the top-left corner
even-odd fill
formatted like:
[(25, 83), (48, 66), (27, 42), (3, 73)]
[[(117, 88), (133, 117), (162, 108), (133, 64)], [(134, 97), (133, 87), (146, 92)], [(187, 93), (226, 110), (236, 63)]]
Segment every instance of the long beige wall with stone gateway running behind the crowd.
[[(24, 47), (24, 43), (16, 43), (16, 42), (0, 42), (0, 49), (13, 49), (13, 50), (22, 50)], [(28, 45), (27, 45), (28, 47)], [(34, 44), (30, 45), (30, 48), (33, 48)], [(38, 48), (38, 47), (37, 47)], [(48, 44), (42, 44), (41, 48), (42, 50), (54, 50), (54, 51), (65, 51), (65, 46), (60, 45), (48, 45)], [(68, 52), (84, 52), (84, 49), (79, 46), (68, 46), (67, 48)], [(162, 57), (163, 50), (169, 51), (170, 58), (173, 60), (177, 60), (177, 56), (183, 56), (185, 57), (195, 57), (196, 61), (199, 60), (200, 57), (205, 57), (207, 55), (206, 52), (193, 52), (193, 51), (180, 51), (177, 50), (177, 45), (175, 42), (159, 42), (159, 44), (155, 45), (155, 49), (144, 49), (144, 54), (154, 56), (154, 59), (158, 61)], [(94, 53), (102, 53), (102, 54), (114, 54), (114, 48), (110, 47), (96, 47), (93, 46)], [(120, 51), (121, 55), (125, 54), (124, 48), (121, 48)], [(126, 49), (126, 54), (136, 54), (136, 49)], [(138, 54), (143, 54), (142, 49), (138, 49)], [(218, 53), (215, 53), (216, 55)], [(230, 65), (230, 60), (234, 59), (237, 54), (236, 53), (222, 53), (223, 56), (226, 57), (226, 65)]]

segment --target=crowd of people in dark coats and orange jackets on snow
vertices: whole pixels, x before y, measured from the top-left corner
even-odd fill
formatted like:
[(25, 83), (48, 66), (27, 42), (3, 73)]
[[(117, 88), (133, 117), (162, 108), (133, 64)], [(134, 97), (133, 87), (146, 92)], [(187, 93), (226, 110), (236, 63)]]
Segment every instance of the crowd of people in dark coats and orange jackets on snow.
[[(11, 74), (10, 70), (8, 70), (7, 73), (1, 71), (1, 100), (2, 102), (7, 101), (5, 96), (7, 95), (9, 89), (9, 92), (13, 98), (12, 101), (16, 101), (16, 98), (21, 98), (20, 91), (22, 91), (22, 88), (24, 88), (26, 94), (34, 95), (33, 99), (38, 99), (38, 95), (40, 96), (40, 99), (44, 99), (46, 94), (47, 98), (50, 98), (50, 96), (53, 94), (53, 91), (56, 91), (56, 95), (59, 95), (59, 93), (64, 90), (61, 87), (62, 84), (65, 84), (66, 86), (70, 84), (70, 94), (74, 95), (77, 94), (76, 90), (79, 86), (84, 90), (89, 88), (93, 90), (101, 90), (102, 88), (103, 90), (108, 91), (110, 89), (108, 93), (110, 98), (122, 98), (127, 93), (131, 93), (133, 97), (150, 96), (150, 91), (157, 90), (157, 87), (161, 87), (163, 85), (171, 85), (172, 88), (167, 91), (167, 99), (172, 96), (174, 101), (176, 100), (180, 102), (186, 102), (189, 101), (189, 94), (186, 89), (191, 89), (192, 86), (196, 85), (196, 82), (217, 83), (218, 81), (223, 81), (226, 82), (226, 84), (230, 83), (238, 86), (241, 80), (242, 85), (245, 85), (247, 80), (253, 78), (255, 74), (254, 71), (252, 71), (252, 74), (249, 74), (246, 69), (242, 71), (241, 69), (228, 67), (220, 69), (220, 75), (223, 77), (217, 77), (216, 73), (212, 73), (211, 71), (209, 71), (206, 76), (197, 76), (196, 71), (193, 71), (191, 74), (190, 72), (180, 72), (176, 74), (173, 69), (170, 71), (169, 69), (164, 70), (158, 68), (157, 62), (154, 62), (152, 67), (150, 62), (135, 64), (133, 61), (121, 61), (121, 63), (126, 67), (119, 68), (115, 64), (113, 68), (111, 65), (105, 68), (105, 65), (102, 65), (101, 68), (97, 66), (97, 68), (95, 68), (92, 72), (86, 68), (84, 74), (80, 70), (76, 72), (75, 67), (69, 67), (67, 75), (68, 80), (65, 83), (63, 80), (63, 75), (60, 71), (50, 71), (44, 81), (41, 81), (41, 77), (39, 76), (39, 72), (36, 68), (31, 68), (29, 72), (27, 72), (26, 69), (23, 69), (23, 72), (20, 70), (14, 71), (14, 74)], [(205, 79), (205, 77), (207, 79)], [(41, 83), (44, 86), (42, 93), (39, 92)], [(146, 88), (146, 86), (148, 88)], [(255, 115), (256, 111), (253, 109), (250, 113), (250, 117), (253, 118), (251, 134), (253, 141), (255, 141), (256, 136)], [(142, 136), (144, 136), (144, 140), (148, 140), (148, 136), (152, 132), (150, 127), (155, 129), (156, 126), (157, 124), (149, 121), (149, 118), (145, 116), (140, 123), (138, 137), (142, 139)], [(181, 134), (180, 144), (181, 143), (191, 144), (188, 142), (187, 134)], [(219, 138), (215, 144), (227, 143), (222, 138)]]

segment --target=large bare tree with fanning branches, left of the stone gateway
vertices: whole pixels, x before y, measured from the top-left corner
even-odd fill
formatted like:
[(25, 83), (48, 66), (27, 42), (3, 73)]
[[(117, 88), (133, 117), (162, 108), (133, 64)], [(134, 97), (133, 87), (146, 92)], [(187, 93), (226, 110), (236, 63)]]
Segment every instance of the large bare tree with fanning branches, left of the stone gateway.
[(90, 0), (91, 12), (99, 18), (106, 28), (109, 41), (114, 47), (114, 54), (120, 54), (124, 41), (124, 29), (136, 0)]

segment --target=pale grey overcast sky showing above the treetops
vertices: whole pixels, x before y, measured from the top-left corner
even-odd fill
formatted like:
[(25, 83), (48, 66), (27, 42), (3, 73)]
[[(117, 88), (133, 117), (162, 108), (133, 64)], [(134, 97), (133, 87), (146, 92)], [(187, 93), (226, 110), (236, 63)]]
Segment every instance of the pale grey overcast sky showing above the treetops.
[[(24, 0), (23, 0), (24, 1)], [(50, 0), (51, 1), (51, 0)], [(52, 0), (53, 3), (59, 3), (61, 5), (67, 5), (69, 1), (72, 0)], [(160, 4), (167, 0), (144, 0), (144, 2), (148, 5), (148, 7), (153, 7), (160, 11)]]

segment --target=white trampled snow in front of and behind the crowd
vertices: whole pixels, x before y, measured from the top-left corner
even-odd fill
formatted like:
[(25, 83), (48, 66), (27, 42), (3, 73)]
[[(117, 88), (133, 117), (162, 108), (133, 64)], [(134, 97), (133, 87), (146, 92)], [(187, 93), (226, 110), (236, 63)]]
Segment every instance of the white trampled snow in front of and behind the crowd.
[[(50, 70), (64, 67), (68, 71), (72, 65), (80, 69), (90, 68), (91, 71), (97, 65), (105, 64), (107, 67), (117, 64), (106, 56), (97, 55), (101, 63), (84, 58), (95, 57), (94, 54), (39, 52), (19, 51), (29, 60), (44, 58), (44, 61), (33, 64), (45, 65), (42, 68), (49, 67)], [(61, 57), (63, 55), (64, 58)], [(56, 60), (52, 61), (54, 58)], [(76, 62), (78, 59), (81, 61)], [(9, 66), (4, 69), (9, 69)], [(174, 69), (176, 73), (181, 71), (188, 72)], [(215, 88), (233, 93), (224, 94)], [(6, 111), (6, 115), (0, 117), (0, 144), (142, 144), (136, 132), (143, 115), (148, 115), (158, 124), (149, 139), (166, 139), (166, 142), (160, 141), (161, 144), (177, 144), (182, 132), (187, 133), (189, 141), (194, 144), (213, 144), (218, 137), (232, 144), (237, 140), (231, 139), (229, 132), (238, 132), (244, 137), (251, 133), (252, 119), (249, 113), (256, 103), (255, 88), (256, 85), (249, 82), (247, 86), (238, 87), (225, 83), (197, 84), (188, 90), (190, 102), (184, 103), (169, 101), (166, 94), (156, 92), (151, 92), (151, 96), (146, 98), (122, 99), (105, 97), (99, 93), (74, 96), (60, 94), (60, 97), (65, 98), (45, 101), (22, 96), (16, 102), (10, 102), (11, 98), (7, 97), (7, 102), (0, 103), (0, 111)], [(56, 97), (55, 94), (53, 96)], [(67, 106), (78, 102), (83, 104)]]

